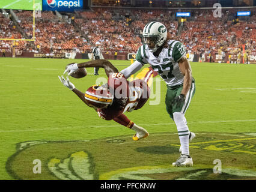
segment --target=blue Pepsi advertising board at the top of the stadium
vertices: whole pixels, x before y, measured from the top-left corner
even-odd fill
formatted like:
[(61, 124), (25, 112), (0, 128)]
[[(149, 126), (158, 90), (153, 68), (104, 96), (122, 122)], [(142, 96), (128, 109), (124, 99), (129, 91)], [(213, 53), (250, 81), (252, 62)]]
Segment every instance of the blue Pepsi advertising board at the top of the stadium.
[(82, 0), (43, 0), (43, 10), (45, 11), (73, 12), (82, 8)]

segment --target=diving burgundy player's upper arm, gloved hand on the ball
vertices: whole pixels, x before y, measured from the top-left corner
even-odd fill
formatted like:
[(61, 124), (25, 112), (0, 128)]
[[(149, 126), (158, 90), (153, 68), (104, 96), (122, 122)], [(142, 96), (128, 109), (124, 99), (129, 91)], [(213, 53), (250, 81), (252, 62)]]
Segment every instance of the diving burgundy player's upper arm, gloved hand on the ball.
[(68, 75), (70, 76), (71, 74), (75, 73), (79, 68), (83, 68), (83, 67), (104, 68), (105, 73), (108, 77), (109, 77), (109, 73), (118, 73), (117, 68), (115, 68), (114, 65), (111, 64), (111, 62), (107, 61), (106, 59), (97, 59), (94, 61), (81, 62), (79, 64), (68, 65), (67, 69), (64, 71), (64, 74), (68, 73)]

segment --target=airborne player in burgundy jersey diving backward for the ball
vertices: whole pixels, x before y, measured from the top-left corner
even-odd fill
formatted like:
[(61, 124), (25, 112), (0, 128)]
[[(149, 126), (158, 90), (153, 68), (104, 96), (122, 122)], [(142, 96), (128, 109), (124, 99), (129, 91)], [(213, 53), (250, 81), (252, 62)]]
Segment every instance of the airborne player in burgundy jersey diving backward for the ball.
[[(105, 120), (114, 120), (118, 124), (131, 128), (136, 131), (132, 137), (133, 140), (139, 140), (147, 137), (147, 130), (136, 125), (133, 121), (124, 115), (124, 112), (138, 110), (147, 102), (150, 96), (151, 77), (157, 75), (152, 68), (144, 68), (132, 82), (127, 81), (122, 73), (111, 62), (105, 59), (98, 59), (79, 64), (71, 64), (66, 68), (65, 73), (68, 76), (78, 71), (79, 68), (100, 67), (105, 69), (108, 78), (106, 85), (93, 85), (87, 91), (81, 92), (70, 82), (61, 76), (59, 80), (64, 86), (75, 92), (78, 97), (90, 107), (93, 107), (100, 118)], [(139, 78), (139, 79), (138, 79)]]

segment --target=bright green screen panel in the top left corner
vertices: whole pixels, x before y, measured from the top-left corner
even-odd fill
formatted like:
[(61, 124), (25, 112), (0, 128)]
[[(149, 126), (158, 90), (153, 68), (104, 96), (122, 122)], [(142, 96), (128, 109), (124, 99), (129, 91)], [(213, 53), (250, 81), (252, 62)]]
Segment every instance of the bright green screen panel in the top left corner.
[(41, 0), (2, 0), (0, 1), (0, 8), (12, 9), (12, 10), (33, 10), (35, 3), (35, 10), (42, 9)]

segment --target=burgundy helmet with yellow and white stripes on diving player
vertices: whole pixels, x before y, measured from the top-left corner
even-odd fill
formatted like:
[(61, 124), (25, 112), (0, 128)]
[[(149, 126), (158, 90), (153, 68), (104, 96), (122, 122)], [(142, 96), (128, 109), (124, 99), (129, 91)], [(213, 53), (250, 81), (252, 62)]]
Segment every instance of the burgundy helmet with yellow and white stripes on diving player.
[(107, 88), (101, 85), (93, 85), (85, 92), (85, 100), (91, 107), (102, 109), (112, 104), (114, 97)]

